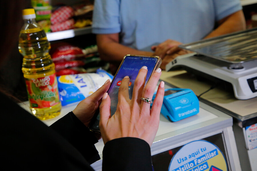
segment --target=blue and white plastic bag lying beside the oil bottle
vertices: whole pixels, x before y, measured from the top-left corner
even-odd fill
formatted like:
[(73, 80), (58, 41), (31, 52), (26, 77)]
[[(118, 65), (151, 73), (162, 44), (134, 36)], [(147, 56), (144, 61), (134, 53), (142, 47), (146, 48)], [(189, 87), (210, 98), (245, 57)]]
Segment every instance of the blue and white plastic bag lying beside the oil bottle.
[(85, 99), (99, 89), (108, 79), (112, 80), (113, 76), (102, 69), (98, 69), (96, 73), (57, 77), (62, 105), (65, 106)]

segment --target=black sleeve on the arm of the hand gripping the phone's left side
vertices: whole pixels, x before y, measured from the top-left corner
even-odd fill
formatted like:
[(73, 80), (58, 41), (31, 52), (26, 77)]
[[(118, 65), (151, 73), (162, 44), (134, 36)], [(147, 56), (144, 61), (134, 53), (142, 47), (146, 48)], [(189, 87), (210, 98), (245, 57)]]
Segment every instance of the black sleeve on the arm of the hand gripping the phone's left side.
[(50, 128), (58, 132), (69, 143), (71, 143), (85, 157), (89, 164), (100, 159), (95, 143), (97, 138), (75, 115), (73, 112), (68, 113)]

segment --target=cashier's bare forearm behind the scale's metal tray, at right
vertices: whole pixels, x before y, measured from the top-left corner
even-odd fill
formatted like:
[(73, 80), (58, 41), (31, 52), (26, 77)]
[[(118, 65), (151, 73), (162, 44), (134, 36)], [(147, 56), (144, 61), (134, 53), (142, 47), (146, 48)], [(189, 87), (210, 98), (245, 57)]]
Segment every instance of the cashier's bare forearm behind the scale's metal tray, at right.
[(228, 34), (231, 32), (245, 30), (245, 29), (246, 29), (246, 23), (244, 19), (244, 14), (243, 14), (243, 11), (240, 10), (218, 21), (218, 28), (213, 30), (205, 38), (220, 36), (222, 34)]

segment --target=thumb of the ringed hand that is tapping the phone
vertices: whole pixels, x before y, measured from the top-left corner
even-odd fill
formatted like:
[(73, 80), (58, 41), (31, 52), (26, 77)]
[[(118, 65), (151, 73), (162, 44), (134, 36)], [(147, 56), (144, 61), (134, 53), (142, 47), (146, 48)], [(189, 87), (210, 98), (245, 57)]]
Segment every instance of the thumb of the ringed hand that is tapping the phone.
[(99, 107), (101, 125), (106, 125), (108, 119), (111, 118), (110, 106), (111, 106), (111, 99), (110, 99), (108, 93), (104, 93), (102, 103)]

